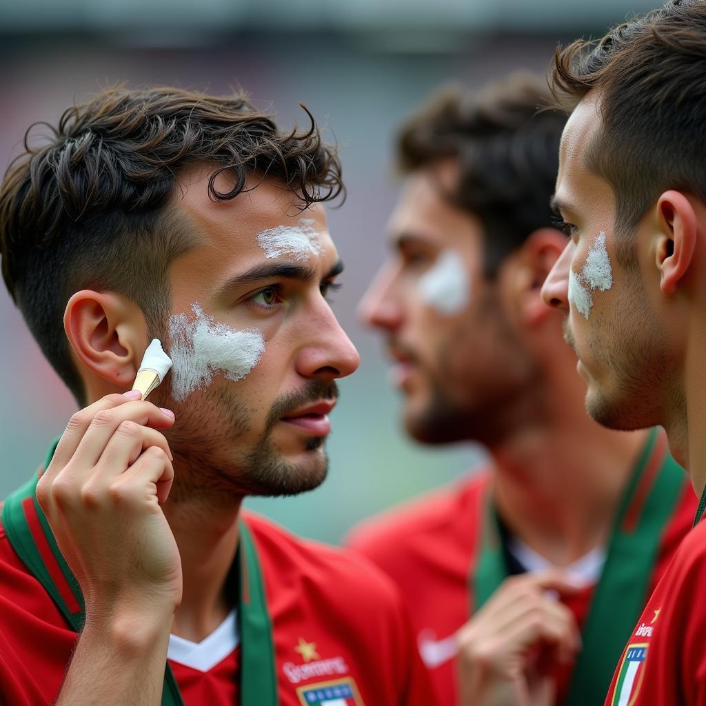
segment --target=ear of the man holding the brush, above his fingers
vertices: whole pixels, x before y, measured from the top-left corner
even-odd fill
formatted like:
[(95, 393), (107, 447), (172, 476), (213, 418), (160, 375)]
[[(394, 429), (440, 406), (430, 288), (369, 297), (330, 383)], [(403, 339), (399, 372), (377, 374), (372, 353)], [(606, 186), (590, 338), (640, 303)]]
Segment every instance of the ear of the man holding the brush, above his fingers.
[(64, 330), (90, 373), (120, 388), (132, 385), (147, 346), (145, 318), (133, 301), (81, 289), (66, 304)]

